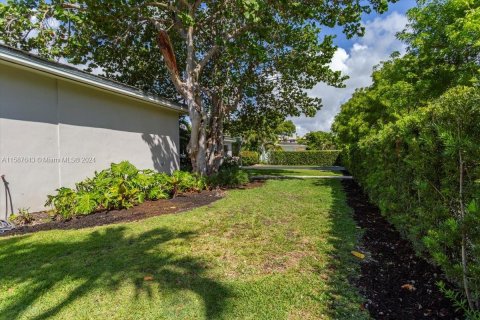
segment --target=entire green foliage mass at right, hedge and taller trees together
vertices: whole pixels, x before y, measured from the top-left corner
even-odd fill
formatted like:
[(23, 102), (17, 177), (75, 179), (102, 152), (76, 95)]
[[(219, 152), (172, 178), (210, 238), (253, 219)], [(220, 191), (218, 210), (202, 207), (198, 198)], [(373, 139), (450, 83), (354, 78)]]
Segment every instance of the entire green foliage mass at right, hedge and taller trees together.
[[(333, 124), (342, 159), (382, 212), (480, 310), (480, 3), (420, 1), (407, 45)], [(462, 254), (465, 252), (465, 254)]]

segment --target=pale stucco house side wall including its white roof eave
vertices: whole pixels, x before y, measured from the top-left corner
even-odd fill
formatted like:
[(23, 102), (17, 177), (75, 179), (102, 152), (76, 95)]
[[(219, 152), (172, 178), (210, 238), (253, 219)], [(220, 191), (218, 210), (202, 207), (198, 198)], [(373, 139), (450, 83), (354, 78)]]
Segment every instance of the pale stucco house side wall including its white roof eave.
[[(128, 160), (179, 168), (183, 106), (0, 45), (0, 219)], [(10, 203), (13, 208), (10, 208)]]

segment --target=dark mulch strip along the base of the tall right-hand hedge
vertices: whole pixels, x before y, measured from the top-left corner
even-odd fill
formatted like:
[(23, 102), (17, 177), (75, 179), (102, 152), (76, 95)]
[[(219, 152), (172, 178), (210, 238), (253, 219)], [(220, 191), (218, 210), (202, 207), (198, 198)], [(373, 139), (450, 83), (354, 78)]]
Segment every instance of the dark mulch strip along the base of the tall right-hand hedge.
[[(364, 229), (361, 276), (355, 285), (375, 319), (463, 319), (438, 290), (442, 272), (415, 255), (411, 243), (381, 216), (353, 180), (343, 180), (348, 204)], [(446, 282), (446, 281), (445, 281)]]

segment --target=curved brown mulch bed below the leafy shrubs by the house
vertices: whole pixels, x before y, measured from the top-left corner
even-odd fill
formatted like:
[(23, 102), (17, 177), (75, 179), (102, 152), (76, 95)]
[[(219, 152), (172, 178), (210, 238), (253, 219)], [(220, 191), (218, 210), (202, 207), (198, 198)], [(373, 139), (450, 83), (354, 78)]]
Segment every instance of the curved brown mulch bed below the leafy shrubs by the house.
[[(238, 189), (251, 189), (262, 185), (263, 182), (252, 182)], [(180, 194), (173, 199), (145, 201), (130, 209), (99, 211), (86, 216), (77, 216), (67, 221), (52, 221), (49, 220), (50, 218), (46, 212), (35, 212), (32, 213), (34, 217), (32, 224), (17, 226), (16, 229), (0, 234), (0, 237), (46, 230), (82, 229), (106, 224), (137, 221), (153, 216), (173, 214), (209, 205), (224, 196), (225, 191), (220, 189), (199, 193), (186, 193)]]

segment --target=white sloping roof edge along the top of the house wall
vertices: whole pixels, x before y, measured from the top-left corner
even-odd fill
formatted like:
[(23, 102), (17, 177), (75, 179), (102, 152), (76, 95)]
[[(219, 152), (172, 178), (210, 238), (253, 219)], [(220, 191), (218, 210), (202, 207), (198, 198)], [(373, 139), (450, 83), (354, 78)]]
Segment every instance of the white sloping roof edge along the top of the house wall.
[(61, 78), (70, 82), (94, 87), (102, 91), (126, 96), (131, 99), (141, 100), (163, 109), (169, 109), (179, 113), (187, 113), (187, 109), (184, 105), (172, 102), (163, 97), (152, 95), (118, 81), (93, 75), (72, 66), (40, 58), (34, 54), (2, 44), (0, 44), (0, 63), (14, 65), (34, 72), (48, 74), (55, 78)]

